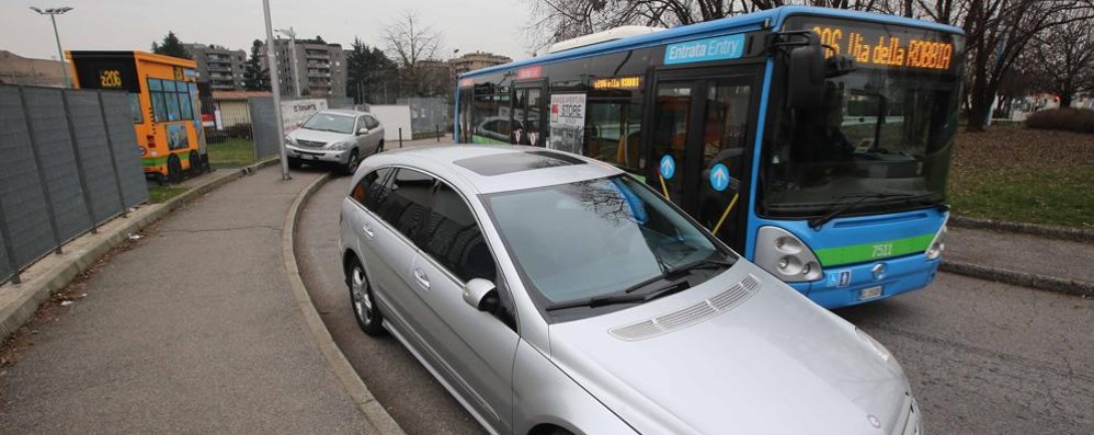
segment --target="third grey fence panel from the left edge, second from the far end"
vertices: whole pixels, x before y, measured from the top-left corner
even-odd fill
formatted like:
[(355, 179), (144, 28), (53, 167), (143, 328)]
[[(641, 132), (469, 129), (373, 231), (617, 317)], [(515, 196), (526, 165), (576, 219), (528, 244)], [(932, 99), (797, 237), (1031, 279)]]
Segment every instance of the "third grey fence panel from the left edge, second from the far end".
[(106, 142), (106, 126), (103, 125), (99, 108), (99, 94), (87, 91), (67, 91), (68, 110), (72, 126), (76, 127), (76, 146), (80, 149), (80, 161), (87, 188), (91, 198), (92, 218), (101, 222), (122, 214), (122, 199), (114, 179), (114, 163), (111, 161), (110, 146)]

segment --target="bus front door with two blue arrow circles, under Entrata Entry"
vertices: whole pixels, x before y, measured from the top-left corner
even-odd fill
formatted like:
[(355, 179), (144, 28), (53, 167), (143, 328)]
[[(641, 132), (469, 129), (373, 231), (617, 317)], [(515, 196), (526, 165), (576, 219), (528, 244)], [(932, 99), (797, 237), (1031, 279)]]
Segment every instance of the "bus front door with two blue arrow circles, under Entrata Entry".
[(755, 73), (657, 77), (647, 182), (744, 252), (755, 125)]

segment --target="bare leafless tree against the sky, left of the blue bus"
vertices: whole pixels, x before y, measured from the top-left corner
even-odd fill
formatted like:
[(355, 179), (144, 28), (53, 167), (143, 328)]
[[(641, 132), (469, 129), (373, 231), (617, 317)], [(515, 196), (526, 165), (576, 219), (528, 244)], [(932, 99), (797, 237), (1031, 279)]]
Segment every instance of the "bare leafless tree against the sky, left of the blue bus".
[(424, 95), (430, 83), (422, 68), (423, 61), (435, 64), (441, 50), (442, 34), (422, 23), (417, 11), (404, 10), (399, 19), (384, 27), (388, 54), (398, 64), (401, 81), (415, 95)]

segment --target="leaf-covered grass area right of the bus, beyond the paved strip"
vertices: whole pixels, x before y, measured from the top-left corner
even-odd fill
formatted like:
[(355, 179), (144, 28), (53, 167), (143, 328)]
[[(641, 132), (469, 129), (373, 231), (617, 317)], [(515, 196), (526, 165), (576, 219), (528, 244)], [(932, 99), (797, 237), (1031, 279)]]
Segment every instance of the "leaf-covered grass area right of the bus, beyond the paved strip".
[(1008, 221), (1094, 228), (1094, 136), (998, 128), (957, 137), (954, 211)]

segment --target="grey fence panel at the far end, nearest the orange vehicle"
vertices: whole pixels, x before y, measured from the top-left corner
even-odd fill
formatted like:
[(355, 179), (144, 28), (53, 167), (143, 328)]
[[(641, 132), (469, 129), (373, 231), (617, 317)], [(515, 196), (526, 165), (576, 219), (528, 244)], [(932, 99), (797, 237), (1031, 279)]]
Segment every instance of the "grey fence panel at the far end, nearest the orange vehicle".
[(140, 164), (140, 147), (133, 130), (129, 96), (125, 92), (103, 92), (103, 111), (106, 113), (114, 159), (122, 179), (122, 197), (126, 207), (148, 201), (148, 183)]

